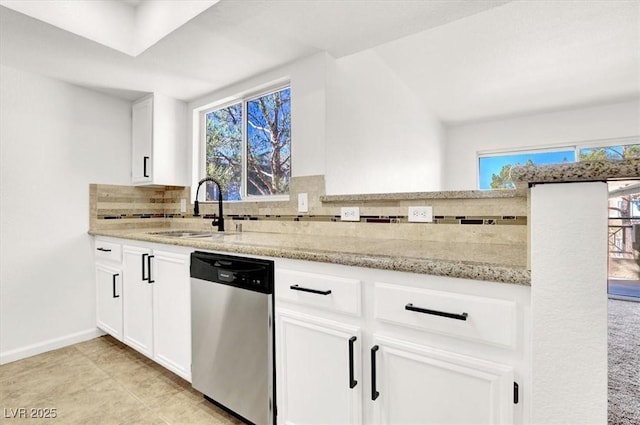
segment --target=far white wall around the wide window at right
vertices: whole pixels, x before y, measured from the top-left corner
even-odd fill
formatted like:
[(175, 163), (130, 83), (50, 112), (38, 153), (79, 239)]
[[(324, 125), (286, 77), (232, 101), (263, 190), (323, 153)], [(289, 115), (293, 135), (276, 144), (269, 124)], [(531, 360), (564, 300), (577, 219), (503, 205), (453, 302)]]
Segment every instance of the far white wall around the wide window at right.
[(477, 189), (479, 151), (592, 144), (640, 136), (640, 101), (504, 118), (446, 128), (445, 190)]

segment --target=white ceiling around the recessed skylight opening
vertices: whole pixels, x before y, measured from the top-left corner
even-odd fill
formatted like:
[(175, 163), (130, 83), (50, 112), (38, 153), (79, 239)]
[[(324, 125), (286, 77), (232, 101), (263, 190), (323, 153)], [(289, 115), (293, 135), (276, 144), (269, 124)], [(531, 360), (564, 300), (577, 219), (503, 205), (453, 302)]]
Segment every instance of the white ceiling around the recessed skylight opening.
[(365, 49), (445, 122), (637, 99), (640, 2), (221, 0), (137, 56), (0, 7), (2, 65), (130, 100)]

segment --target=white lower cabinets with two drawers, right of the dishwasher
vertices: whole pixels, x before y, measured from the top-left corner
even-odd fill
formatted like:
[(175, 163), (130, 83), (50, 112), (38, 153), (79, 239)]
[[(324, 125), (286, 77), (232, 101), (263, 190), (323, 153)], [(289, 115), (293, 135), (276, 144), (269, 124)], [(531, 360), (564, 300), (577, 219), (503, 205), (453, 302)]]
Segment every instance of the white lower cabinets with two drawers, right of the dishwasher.
[(278, 424), (528, 424), (527, 289), (277, 261)]

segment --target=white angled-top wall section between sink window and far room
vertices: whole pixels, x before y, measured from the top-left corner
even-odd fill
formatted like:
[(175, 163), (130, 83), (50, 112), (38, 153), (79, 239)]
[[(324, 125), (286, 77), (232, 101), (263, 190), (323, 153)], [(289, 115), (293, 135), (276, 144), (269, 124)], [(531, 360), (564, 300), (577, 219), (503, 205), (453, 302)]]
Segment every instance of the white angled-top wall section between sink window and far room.
[(327, 194), (442, 184), (442, 126), (375, 49), (338, 59), (327, 101)]

